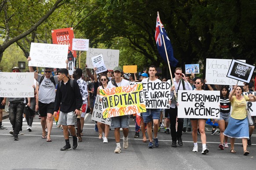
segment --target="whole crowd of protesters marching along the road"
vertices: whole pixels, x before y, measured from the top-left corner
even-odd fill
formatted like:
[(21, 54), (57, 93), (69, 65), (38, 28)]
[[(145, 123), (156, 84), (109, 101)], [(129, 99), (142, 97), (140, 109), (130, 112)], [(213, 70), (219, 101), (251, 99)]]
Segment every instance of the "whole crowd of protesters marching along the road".
[[(28, 60), (31, 60), (29, 57)], [(216, 121), (219, 127), (219, 149), (230, 148), (231, 153), (236, 153), (234, 149), (235, 138), (242, 139), (243, 154), (248, 155), (247, 145), (252, 145), (251, 136), (254, 125), (249, 126), (246, 113), (246, 102), (255, 102), (256, 96), (253, 94), (243, 95), (243, 92), (255, 91), (255, 76), (250, 83), (238, 85), (209, 85), (206, 80), (196, 77), (194, 74), (185, 75), (181, 67), (177, 67), (174, 78), (160, 78), (157, 74), (157, 67), (151, 65), (148, 71), (141, 74), (130, 74), (129, 80), (124, 78), (121, 67), (114, 67), (101, 74), (96, 74), (97, 68), (91, 72), (88, 68), (85, 72), (77, 68), (72, 75), (68, 69), (59, 69), (54, 75), (52, 68), (44, 68), (43, 74), (38, 74), (29, 66), (29, 72), (34, 73), (34, 97), (31, 98), (0, 98), (0, 130), (7, 130), (2, 124), (3, 110), (9, 112), (9, 120), (12, 125), (10, 134), (18, 141), (19, 135), (24, 135), (22, 124), (27, 123), (27, 131), (33, 130), (33, 119), (30, 116), (30, 109), (39, 113), (42, 126), (42, 136), (46, 142), (51, 142), (51, 129), (54, 117), (59, 117), (58, 127), (62, 128), (65, 145), (60, 149), (66, 151), (71, 149), (69, 137), (72, 136), (72, 149), (77, 149), (78, 142), (82, 142), (84, 130), (84, 117), (93, 112), (96, 96), (101, 89), (121, 87), (129, 85), (130, 82), (170, 82), (171, 96), (179, 90), (216, 90), (220, 92), (220, 117)], [(12, 72), (21, 72), (18, 67), (13, 67)], [(87, 75), (87, 76), (84, 76)], [(108, 142), (110, 130), (113, 130), (116, 146), (114, 153), (120, 153), (121, 148), (128, 149), (129, 119), (133, 117), (135, 122), (135, 135), (139, 138), (140, 132), (142, 142), (148, 142), (148, 148), (159, 147), (157, 133), (163, 129), (164, 133), (171, 134), (171, 147), (183, 146), (182, 135), (186, 131), (192, 131), (194, 147), (192, 152), (207, 154), (207, 139), (205, 135), (205, 124), (207, 119), (178, 118), (178, 106), (175, 98), (169, 101), (169, 109), (146, 109), (146, 112), (135, 115), (125, 115), (111, 117), (111, 126), (100, 122), (95, 122), (95, 131), (98, 132), (99, 139), (103, 143)], [(254, 121), (255, 120), (255, 117)], [(211, 121), (211, 120), (210, 120)], [(217, 127), (212, 127), (212, 135), (218, 133)], [(197, 135), (200, 135), (202, 146), (198, 147)], [(122, 143), (120, 139), (122, 138)], [(230, 146), (228, 145), (230, 138)], [(121, 147), (122, 144), (122, 147)]]

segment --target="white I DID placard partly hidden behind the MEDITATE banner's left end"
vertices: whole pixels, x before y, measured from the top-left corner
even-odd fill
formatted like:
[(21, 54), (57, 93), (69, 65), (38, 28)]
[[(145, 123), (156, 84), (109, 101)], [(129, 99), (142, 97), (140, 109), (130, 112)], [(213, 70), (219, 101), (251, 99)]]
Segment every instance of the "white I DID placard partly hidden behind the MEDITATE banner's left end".
[(95, 99), (92, 115), (91, 115), (91, 120), (110, 125), (111, 124), (110, 117), (103, 118), (102, 104), (101, 102), (99, 102), (99, 99), (100, 99), (100, 96), (97, 95)]

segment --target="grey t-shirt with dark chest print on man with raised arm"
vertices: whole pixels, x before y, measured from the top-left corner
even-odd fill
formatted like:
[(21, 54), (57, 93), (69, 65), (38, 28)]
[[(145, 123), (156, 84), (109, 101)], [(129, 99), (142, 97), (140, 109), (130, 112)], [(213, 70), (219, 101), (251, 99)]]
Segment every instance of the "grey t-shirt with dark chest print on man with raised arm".
[[(43, 76), (41, 74), (38, 74), (37, 81), (40, 82), (41, 78)], [(58, 84), (58, 76), (54, 76), (55, 84)], [(44, 77), (44, 80), (41, 82), (38, 92), (38, 101), (41, 103), (52, 103), (55, 101), (55, 85), (53, 82), (51, 82), (50, 78)]]

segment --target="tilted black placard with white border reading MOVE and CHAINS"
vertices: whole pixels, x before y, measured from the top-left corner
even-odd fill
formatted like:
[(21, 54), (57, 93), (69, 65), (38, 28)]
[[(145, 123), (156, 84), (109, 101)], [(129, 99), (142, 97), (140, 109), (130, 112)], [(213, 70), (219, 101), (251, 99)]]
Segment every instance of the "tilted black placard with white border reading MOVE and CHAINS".
[(238, 60), (232, 60), (227, 72), (227, 77), (250, 83), (254, 68), (253, 65)]

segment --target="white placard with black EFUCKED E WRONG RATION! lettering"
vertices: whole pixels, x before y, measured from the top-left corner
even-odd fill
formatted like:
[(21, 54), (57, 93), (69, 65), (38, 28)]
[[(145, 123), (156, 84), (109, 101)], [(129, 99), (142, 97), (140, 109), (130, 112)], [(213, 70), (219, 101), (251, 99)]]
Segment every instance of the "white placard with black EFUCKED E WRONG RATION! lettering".
[(143, 83), (143, 92), (147, 109), (169, 109), (169, 97), (171, 94), (169, 82)]

